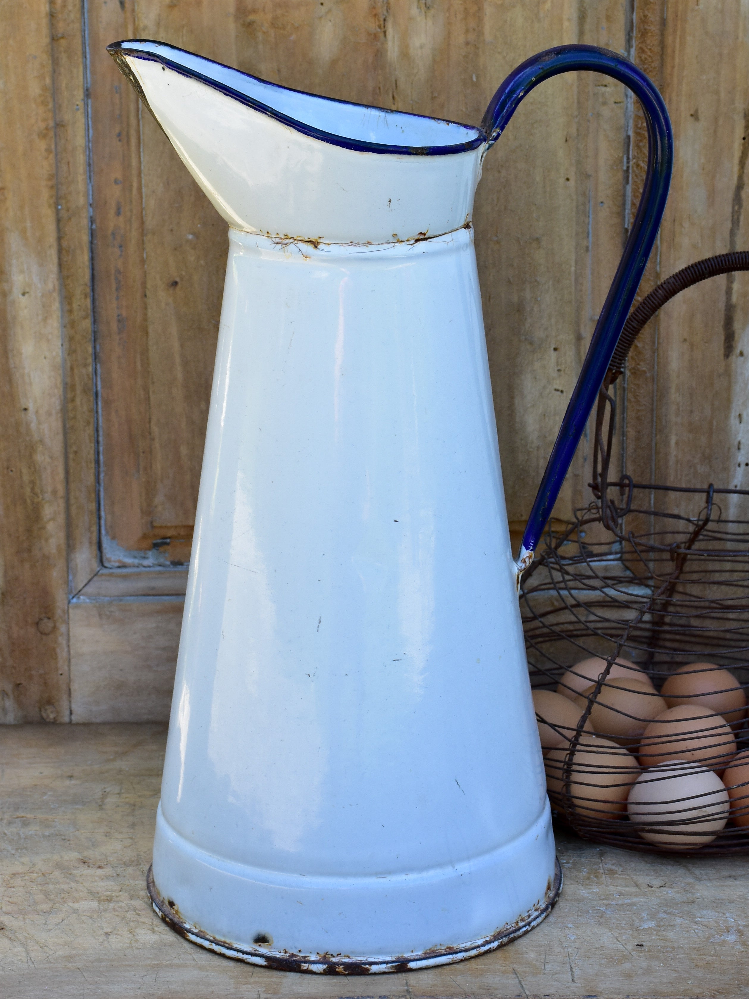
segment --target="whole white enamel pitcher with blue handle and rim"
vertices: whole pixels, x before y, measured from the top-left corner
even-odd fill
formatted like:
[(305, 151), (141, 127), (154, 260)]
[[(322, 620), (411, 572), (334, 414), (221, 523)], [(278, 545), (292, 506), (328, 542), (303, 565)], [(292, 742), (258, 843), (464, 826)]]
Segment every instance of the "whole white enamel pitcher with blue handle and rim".
[[(621, 56), (523, 63), (481, 128), (110, 46), (230, 226), (149, 890), (270, 967), (404, 970), (499, 946), (560, 888), (516, 587), (632, 304), (671, 174)], [(565, 70), (639, 99), (645, 190), (517, 561), (471, 210), (520, 100)]]

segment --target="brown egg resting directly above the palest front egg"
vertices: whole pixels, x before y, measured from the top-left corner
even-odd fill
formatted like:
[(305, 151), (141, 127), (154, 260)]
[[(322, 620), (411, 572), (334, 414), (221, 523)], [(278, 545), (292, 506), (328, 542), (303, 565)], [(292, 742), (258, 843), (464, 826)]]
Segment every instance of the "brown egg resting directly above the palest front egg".
[(685, 759), (722, 773), (735, 752), (731, 726), (720, 714), (699, 704), (677, 704), (647, 726), (637, 755), (642, 766)]

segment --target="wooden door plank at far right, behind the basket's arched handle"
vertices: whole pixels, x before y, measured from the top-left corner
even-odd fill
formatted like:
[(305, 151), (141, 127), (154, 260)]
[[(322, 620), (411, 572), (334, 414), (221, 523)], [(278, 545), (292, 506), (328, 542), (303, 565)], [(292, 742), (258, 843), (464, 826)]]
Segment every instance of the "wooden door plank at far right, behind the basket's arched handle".
[[(668, 5), (664, 96), (674, 179), (661, 238), (664, 276), (749, 247), (749, 3)], [(643, 335), (644, 336), (644, 335)], [(716, 278), (661, 312), (655, 479), (749, 487), (749, 278)], [(728, 514), (731, 500), (721, 500)]]

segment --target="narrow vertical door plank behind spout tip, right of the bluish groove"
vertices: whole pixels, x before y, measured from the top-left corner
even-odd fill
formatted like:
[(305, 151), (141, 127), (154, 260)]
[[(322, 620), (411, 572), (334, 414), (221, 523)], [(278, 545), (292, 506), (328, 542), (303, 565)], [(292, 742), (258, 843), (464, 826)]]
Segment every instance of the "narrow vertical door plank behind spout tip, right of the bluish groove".
[(143, 265), (140, 108), (106, 47), (136, 34), (134, 0), (90, 0), (96, 361), (105, 564), (150, 528), (151, 415)]

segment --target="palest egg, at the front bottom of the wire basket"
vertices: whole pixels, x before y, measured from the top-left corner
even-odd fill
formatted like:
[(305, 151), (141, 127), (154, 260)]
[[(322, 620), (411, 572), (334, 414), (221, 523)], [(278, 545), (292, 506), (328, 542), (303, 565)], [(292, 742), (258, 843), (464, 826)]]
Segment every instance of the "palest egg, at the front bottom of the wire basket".
[(672, 760), (644, 770), (627, 798), (637, 832), (669, 850), (711, 843), (728, 820), (728, 791), (712, 770)]

